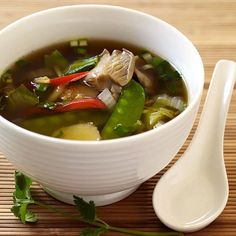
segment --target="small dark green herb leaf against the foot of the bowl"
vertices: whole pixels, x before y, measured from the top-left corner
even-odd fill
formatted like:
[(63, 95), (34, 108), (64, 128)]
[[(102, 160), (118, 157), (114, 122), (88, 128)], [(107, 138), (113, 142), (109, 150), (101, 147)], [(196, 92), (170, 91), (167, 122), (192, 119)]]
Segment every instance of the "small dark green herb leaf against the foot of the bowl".
[(82, 219), (89, 222), (96, 220), (96, 207), (93, 201), (86, 202), (82, 198), (74, 196), (74, 203)]

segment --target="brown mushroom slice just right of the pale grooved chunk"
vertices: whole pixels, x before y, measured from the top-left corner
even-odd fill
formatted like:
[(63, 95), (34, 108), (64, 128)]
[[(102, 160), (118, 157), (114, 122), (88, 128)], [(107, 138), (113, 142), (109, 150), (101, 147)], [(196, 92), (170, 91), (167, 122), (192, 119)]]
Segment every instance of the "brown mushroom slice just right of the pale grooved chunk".
[(134, 72), (137, 75), (139, 82), (145, 88), (146, 92), (153, 94), (155, 93), (157, 86), (154, 71), (152, 69), (145, 70), (145, 65), (146, 62), (143, 59), (136, 57)]

